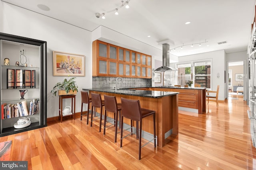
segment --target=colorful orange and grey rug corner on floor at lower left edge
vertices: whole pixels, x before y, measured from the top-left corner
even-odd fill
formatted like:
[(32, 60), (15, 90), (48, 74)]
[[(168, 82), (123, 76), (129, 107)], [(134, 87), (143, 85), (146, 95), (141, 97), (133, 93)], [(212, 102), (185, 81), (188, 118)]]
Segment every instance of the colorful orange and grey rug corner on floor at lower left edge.
[(12, 150), (12, 141), (0, 143), (0, 161), (9, 161)]

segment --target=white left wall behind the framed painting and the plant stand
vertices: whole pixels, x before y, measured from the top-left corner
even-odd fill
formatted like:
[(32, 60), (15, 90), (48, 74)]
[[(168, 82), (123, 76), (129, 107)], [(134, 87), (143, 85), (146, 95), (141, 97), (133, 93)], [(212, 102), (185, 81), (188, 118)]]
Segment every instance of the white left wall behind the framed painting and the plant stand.
[[(77, 77), (78, 90), (92, 86), (91, 32), (35, 12), (0, 1), (0, 32), (47, 41), (47, 117), (58, 116), (58, 97), (50, 91), (66, 77), (53, 76), (52, 51), (85, 55), (85, 75)], [(18, 56), (19, 57), (19, 56)], [(28, 63), (28, 65), (30, 65)], [(18, 94), (19, 95), (19, 94)], [(76, 112), (81, 110), (81, 95), (76, 96)], [(67, 99), (63, 106), (71, 106)], [(86, 110), (86, 107), (84, 107)]]

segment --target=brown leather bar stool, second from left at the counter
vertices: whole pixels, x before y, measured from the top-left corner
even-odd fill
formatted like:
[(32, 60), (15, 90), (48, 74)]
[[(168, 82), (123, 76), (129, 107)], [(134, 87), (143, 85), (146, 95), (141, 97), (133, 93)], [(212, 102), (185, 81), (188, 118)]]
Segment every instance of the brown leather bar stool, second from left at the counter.
[[(96, 93), (91, 93), (92, 96), (92, 113), (94, 111), (94, 114), (96, 113), (96, 108), (100, 108), (100, 130), (99, 132), (101, 132), (101, 124), (102, 124), (102, 109), (103, 106), (105, 105), (104, 100), (101, 100), (101, 95), (100, 94), (96, 94)], [(94, 109), (94, 110), (93, 110)], [(95, 121), (97, 119), (92, 119), (93, 114), (91, 114), (91, 127), (92, 127), (92, 121)], [(94, 115), (94, 117), (96, 117), (96, 115)]]

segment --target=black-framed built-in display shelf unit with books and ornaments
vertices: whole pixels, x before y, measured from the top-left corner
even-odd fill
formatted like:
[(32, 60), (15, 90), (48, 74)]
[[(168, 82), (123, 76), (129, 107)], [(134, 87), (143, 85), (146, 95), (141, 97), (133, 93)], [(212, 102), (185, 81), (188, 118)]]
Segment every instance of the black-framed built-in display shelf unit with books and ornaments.
[[(21, 55), (22, 53), (24, 55)], [(9, 59), (9, 65), (4, 63), (5, 58)], [(20, 66), (16, 65), (16, 61)], [(0, 67), (0, 137), (47, 126), (46, 41), (0, 33)], [(8, 70), (13, 70), (10, 75)], [(20, 77), (20, 70), (28, 74), (23, 73)], [(19, 90), (28, 90), (24, 96), (25, 99), (20, 99)], [(29, 112), (30, 101), (33, 99), (39, 100), (38, 113), (27, 116), (19, 114), (19, 117), (2, 117), (3, 104), (15, 105), (26, 101)], [(21, 129), (14, 128), (14, 123), (20, 117), (29, 117), (31, 124)]]

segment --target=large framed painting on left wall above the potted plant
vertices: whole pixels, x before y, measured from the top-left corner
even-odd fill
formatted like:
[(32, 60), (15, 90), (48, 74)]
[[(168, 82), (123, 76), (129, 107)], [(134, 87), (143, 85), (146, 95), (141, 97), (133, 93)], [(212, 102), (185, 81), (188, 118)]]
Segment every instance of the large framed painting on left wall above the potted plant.
[(53, 51), (54, 76), (85, 76), (84, 55)]

